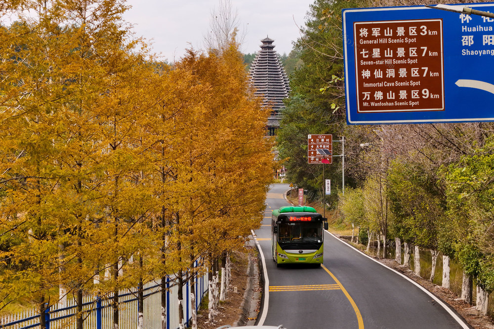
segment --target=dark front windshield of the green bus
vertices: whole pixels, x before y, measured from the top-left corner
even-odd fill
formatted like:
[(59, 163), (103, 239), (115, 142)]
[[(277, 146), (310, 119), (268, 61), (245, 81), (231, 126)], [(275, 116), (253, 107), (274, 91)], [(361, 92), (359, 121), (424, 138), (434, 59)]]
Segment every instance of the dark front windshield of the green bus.
[(280, 223), (278, 226), (279, 242), (323, 242), (321, 222), (308, 221)]

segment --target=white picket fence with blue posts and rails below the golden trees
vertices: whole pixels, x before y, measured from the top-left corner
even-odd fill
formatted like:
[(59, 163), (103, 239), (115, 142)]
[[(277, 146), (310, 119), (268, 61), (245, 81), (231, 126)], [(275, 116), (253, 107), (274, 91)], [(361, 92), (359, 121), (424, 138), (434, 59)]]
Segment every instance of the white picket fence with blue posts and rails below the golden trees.
[[(178, 287), (174, 284), (173, 277), (166, 277), (166, 328), (177, 329), (178, 323)], [(161, 329), (161, 281), (155, 280), (144, 285), (144, 328)], [(184, 316), (187, 322), (192, 318), (192, 306), (199, 308), (204, 295), (207, 292), (207, 273), (195, 280), (196, 302), (191, 305), (190, 281), (186, 280), (183, 287), (185, 308)], [(137, 289), (119, 292), (119, 324), (120, 329), (137, 328), (138, 299)], [(110, 329), (113, 328), (112, 295), (105, 297), (85, 296), (83, 301), (84, 328), (88, 329)], [(75, 315), (77, 305), (75, 300), (68, 301), (70, 306), (58, 307), (51, 305), (47, 307), (44, 317), (47, 329), (75, 328)], [(17, 314), (0, 318), (0, 328), (5, 329), (28, 329), (40, 328), (40, 314), (37, 310), (21, 311)]]

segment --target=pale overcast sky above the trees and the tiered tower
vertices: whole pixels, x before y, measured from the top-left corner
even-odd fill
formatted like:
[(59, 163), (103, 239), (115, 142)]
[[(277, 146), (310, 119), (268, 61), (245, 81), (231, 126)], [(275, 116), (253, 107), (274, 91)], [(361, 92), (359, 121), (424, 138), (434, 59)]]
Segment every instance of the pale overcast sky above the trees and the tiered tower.
[[(261, 39), (275, 40), (275, 50), (282, 55), (300, 37), (309, 5), (314, 0), (230, 0), (237, 11), (243, 53), (258, 51)], [(127, 0), (131, 5), (124, 19), (134, 25), (136, 36), (152, 42), (152, 50), (163, 60), (173, 62), (185, 49), (204, 49), (211, 12), (219, 0)]]

